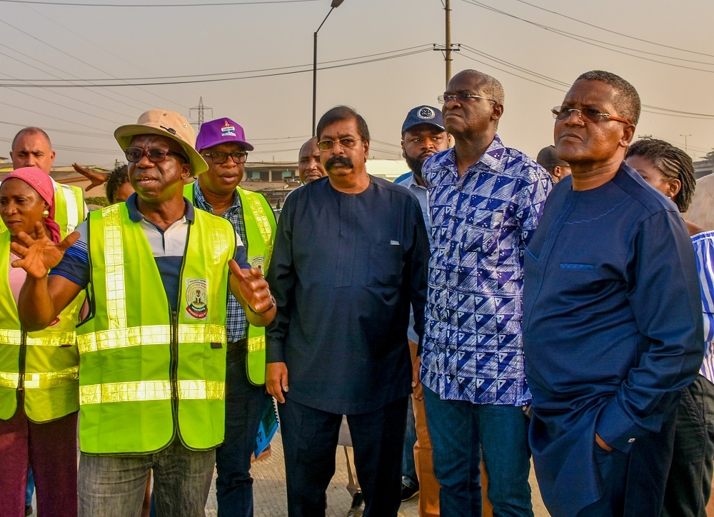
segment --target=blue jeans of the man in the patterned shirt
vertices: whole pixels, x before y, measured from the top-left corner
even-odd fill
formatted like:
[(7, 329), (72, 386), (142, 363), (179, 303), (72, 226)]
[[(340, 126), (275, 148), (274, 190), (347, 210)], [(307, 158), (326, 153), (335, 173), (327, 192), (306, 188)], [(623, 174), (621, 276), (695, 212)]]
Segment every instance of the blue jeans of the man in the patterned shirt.
[(528, 419), (517, 406), (442, 401), (424, 386), (441, 515), (481, 516), (481, 450), (494, 516), (533, 516)]

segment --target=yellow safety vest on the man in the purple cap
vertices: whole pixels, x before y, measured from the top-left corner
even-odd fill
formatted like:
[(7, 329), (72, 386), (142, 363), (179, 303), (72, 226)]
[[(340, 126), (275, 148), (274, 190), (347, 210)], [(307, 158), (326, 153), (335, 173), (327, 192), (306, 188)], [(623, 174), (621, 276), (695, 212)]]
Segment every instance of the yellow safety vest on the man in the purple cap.
[[(198, 181), (198, 180), (196, 180)], [(246, 224), (248, 263), (268, 272), (275, 242), (276, 220), (273, 209), (263, 194), (236, 188), (241, 196), (243, 221)], [(183, 196), (194, 204), (193, 184), (183, 187)], [(248, 381), (260, 386), (266, 383), (266, 331), (264, 327), (248, 325), (248, 354), (246, 355)]]

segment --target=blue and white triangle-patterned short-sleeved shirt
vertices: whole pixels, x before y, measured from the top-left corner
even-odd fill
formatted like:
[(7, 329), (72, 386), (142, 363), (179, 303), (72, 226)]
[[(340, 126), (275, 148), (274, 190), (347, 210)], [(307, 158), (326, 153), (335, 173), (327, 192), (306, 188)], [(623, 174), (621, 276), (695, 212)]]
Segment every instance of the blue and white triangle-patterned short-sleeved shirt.
[(433, 247), (421, 381), (442, 400), (523, 406), (523, 253), (553, 184), (550, 174), (496, 136), (466, 169), (456, 151), (431, 156)]

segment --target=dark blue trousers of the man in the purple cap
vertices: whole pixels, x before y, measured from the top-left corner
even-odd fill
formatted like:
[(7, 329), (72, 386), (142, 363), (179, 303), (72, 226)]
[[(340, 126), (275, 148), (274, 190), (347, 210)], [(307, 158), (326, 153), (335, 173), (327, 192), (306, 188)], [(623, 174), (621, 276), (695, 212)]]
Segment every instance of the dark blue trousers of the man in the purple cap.
[(248, 381), (246, 348), (236, 346), (226, 357), (226, 440), (216, 449), (219, 516), (253, 517), (251, 454), (261, 415), (271, 403), (265, 386)]

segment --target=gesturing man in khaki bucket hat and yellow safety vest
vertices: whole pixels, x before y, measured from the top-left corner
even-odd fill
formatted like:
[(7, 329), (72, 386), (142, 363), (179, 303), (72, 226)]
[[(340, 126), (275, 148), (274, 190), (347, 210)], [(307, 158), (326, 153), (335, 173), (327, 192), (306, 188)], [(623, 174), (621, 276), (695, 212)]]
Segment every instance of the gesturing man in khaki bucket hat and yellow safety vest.
[(275, 301), (231, 224), (183, 199), (183, 180), (208, 169), (188, 121), (151, 110), (114, 136), (136, 194), (60, 244), (21, 235), (20, 321), (44, 328), (88, 288), (79, 515), (138, 514), (153, 469), (160, 515), (203, 516), (224, 432), (226, 294), (254, 326), (272, 321)]

